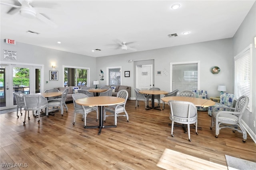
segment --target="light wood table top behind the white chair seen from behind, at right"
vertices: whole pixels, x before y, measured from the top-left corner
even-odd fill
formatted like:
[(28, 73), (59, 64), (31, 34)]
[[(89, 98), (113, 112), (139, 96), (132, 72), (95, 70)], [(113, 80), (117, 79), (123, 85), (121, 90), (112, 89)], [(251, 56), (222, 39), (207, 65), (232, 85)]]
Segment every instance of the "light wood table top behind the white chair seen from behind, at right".
[(201, 106), (201, 107), (208, 107), (208, 106), (214, 106), (215, 102), (208, 99), (201, 99), (201, 98), (190, 98), (190, 97), (183, 97), (183, 96), (170, 96), (170, 97), (164, 97), (161, 98), (162, 101), (168, 102), (169, 100), (178, 100), (178, 101), (184, 101), (184, 102), (191, 102), (195, 106)]

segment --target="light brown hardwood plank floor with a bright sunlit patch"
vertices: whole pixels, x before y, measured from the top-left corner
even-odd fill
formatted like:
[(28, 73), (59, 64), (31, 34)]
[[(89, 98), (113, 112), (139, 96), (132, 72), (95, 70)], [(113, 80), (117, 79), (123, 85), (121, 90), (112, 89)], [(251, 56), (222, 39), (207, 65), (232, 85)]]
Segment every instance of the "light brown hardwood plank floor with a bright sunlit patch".
[[(68, 113), (38, 118), (30, 115), (23, 125), (16, 112), (0, 115), (0, 169), (227, 169), (225, 154), (256, 162), (256, 144), (250, 136), (242, 142), (241, 133), (221, 129), (215, 138), (210, 130), (211, 117), (198, 111), (198, 130), (191, 129), (191, 139), (181, 127), (170, 136), (168, 105), (164, 111), (145, 110), (144, 102), (135, 108), (128, 100), (126, 117), (118, 118), (116, 128), (84, 129), (82, 115), (74, 120), (74, 106), (68, 104)], [(162, 108), (162, 104), (161, 107)], [(106, 125), (114, 123), (107, 117)], [(89, 113), (87, 125), (98, 125), (96, 115)], [(16, 164), (15, 164), (16, 163)], [(25, 167), (27, 166), (27, 167)]]

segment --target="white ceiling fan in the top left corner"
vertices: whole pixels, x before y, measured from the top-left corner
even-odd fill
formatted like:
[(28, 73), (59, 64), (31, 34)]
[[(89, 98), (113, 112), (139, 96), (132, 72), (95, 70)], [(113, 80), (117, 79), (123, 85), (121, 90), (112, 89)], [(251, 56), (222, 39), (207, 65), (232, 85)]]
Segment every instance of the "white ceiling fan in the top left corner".
[[(4, 2), (0, 2), (0, 4), (11, 6), (14, 9), (9, 10), (8, 14), (17, 14), (20, 13), (21, 16), (24, 16), (26, 18), (38, 18), (39, 20), (43, 21), (44, 23), (47, 23), (48, 25), (51, 25), (52, 27), (57, 27), (57, 25), (43, 16), (42, 14), (56, 14), (56, 10), (50, 9), (50, 8), (36, 8), (33, 7), (30, 3), (32, 0), (18, 0), (18, 2), (21, 4), (21, 6), (17, 6), (14, 4), (6, 4)], [(57, 12), (58, 13), (58, 12)]]

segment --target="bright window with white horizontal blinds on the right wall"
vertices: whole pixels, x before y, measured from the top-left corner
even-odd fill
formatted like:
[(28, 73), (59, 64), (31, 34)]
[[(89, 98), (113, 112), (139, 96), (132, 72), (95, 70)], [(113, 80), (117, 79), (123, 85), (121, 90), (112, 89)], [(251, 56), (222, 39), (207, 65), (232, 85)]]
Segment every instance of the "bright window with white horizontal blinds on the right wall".
[(249, 98), (247, 109), (252, 105), (252, 44), (234, 57), (235, 62), (235, 100), (245, 95)]

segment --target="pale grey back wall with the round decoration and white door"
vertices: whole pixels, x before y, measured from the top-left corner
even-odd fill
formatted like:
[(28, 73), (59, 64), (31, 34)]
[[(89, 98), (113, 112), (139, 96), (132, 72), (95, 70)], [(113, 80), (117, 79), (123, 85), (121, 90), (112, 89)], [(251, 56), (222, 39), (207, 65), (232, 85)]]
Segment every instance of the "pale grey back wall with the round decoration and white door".
[[(134, 84), (134, 64), (128, 63), (128, 60), (143, 61), (154, 59), (154, 77), (155, 87), (161, 90), (170, 91), (170, 63), (184, 61), (200, 61), (201, 81), (198, 90), (207, 90), (208, 96), (219, 96), (217, 91), (219, 84), (225, 84), (228, 93), (234, 91), (233, 55), (232, 38), (194, 43), (189, 45), (180, 45), (142, 52), (126, 53), (123, 55), (113, 55), (108, 57), (96, 58), (96, 70), (105, 70), (110, 66), (122, 66), (122, 85), (132, 86), (132, 97), (135, 97)], [(212, 66), (220, 67), (220, 73), (212, 74)], [(156, 70), (169, 71), (168, 75), (156, 76)], [(124, 71), (130, 70), (130, 78), (124, 77)], [(100, 81), (106, 85), (106, 80)]]

